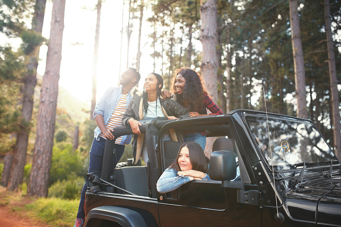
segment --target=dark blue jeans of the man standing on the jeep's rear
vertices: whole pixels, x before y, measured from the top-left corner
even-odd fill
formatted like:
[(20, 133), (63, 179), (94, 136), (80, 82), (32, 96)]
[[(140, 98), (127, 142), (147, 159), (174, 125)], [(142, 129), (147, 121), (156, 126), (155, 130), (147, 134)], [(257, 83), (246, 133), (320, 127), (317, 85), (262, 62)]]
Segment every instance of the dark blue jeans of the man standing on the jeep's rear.
[[(103, 154), (105, 147), (105, 139), (100, 137), (100, 141), (97, 141), (95, 138), (92, 141), (91, 150), (90, 150), (90, 160), (89, 160), (89, 172), (101, 172), (102, 171), (102, 163), (103, 163)], [(115, 144), (116, 155), (114, 154), (114, 168), (117, 162), (122, 157), (124, 151), (124, 145)], [(80, 202), (77, 212), (77, 218), (85, 218), (84, 213), (84, 201), (85, 201), (85, 192), (87, 190), (86, 184), (84, 184), (83, 189), (80, 194)]]

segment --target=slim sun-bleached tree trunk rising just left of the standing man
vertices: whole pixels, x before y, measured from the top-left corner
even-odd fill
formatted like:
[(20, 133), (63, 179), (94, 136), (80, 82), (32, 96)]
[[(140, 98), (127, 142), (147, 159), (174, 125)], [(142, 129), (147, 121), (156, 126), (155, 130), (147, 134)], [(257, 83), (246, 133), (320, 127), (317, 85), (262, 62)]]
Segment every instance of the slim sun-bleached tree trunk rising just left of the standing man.
[(96, 8), (97, 8), (97, 22), (96, 22), (96, 33), (95, 33), (95, 48), (93, 51), (92, 99), (91, 99), (91, 110), (90, 110), (90, 120), (93, 120), (93, 121), (95, 120), (92, 114), (96, 106), (97, 63), (98, 63), (98, 46), (100, 44), (100, 22), (101, 22), (102, 0), (98, 0)]

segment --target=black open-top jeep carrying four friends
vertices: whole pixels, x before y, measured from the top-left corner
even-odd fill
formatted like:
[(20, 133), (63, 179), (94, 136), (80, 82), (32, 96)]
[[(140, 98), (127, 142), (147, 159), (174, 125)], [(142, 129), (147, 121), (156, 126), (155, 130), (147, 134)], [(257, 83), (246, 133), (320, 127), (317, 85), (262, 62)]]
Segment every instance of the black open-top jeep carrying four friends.
[[(141, 120), (142, 132), (146, 120)], [(147, 166), (113, 171), (107, 140), (101, 173), (87, 176), (85, 226), (341, 226), (340, 162), (309, 120), (250, 110), (155, 122)], [(169, 130), (176, 139), (164, 141)], [(161, 194), (184, 130), (214, 140), (209, 176)], [(117, 127), (114, 136), (132, 134)], [(238, 162), (235, 161), (238, 157)], [(240, 180), (231, 181), (239, 168)]]

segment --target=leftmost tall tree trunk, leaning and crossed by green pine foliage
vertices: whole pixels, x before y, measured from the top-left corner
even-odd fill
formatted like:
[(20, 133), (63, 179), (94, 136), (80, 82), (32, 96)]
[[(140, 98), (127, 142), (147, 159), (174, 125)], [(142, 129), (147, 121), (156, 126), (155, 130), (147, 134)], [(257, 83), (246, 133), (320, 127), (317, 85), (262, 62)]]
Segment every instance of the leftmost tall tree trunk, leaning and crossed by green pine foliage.
[[(32, 18), (32, 30), (36, 33), (42, 33), (45, 14), (46, 0), (37, 0), (34, 6), (34, 15)], [(7, 189), (15, 191), (18, 185), (23, 183), (24, 166), (26, 162), (27, 144), (30, 133), (30, 122), (33, 110), (33, 93), (37, 84), (37, 67), (39, 59), (40, 46), (28, 56), (27, 74), (24, 78), (23, 106), (21, 107), (21, 119), (25, 120), (26, 126), (17, 133), (17, 140), (13, 150), (13, 161), (11, 165), (10, 178)]]

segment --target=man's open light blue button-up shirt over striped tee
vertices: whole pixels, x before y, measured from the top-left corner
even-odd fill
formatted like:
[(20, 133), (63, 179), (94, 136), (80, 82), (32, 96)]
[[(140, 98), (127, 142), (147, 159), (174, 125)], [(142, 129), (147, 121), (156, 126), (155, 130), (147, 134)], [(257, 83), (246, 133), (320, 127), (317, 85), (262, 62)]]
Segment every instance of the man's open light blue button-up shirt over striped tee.
[[(133, 88), (135, 89), (135, 88)], [(110, 87), (105, 92), (101, 99), (97, 102), (95, 106), (95, 110), (93, 111), (93, 118), (97, 115), (102, 115), (104, 118), (105, 125), (108, 123), (110, 117), (113, 115), (113, 112), (117, 106), (118, 101), (122, 97), (122, 88), (121, 87)], [(131, 101), (132, 94), (131, 90), (128, 92), (127, 95), (127, 107)], [(97, 141), (100, 140), (101, 130), (97, 126), (94, 130), (94, 137)], [(121, 145), (122, 144), (129, 144), (131, 141), (131, 135), (122, 136)]]

